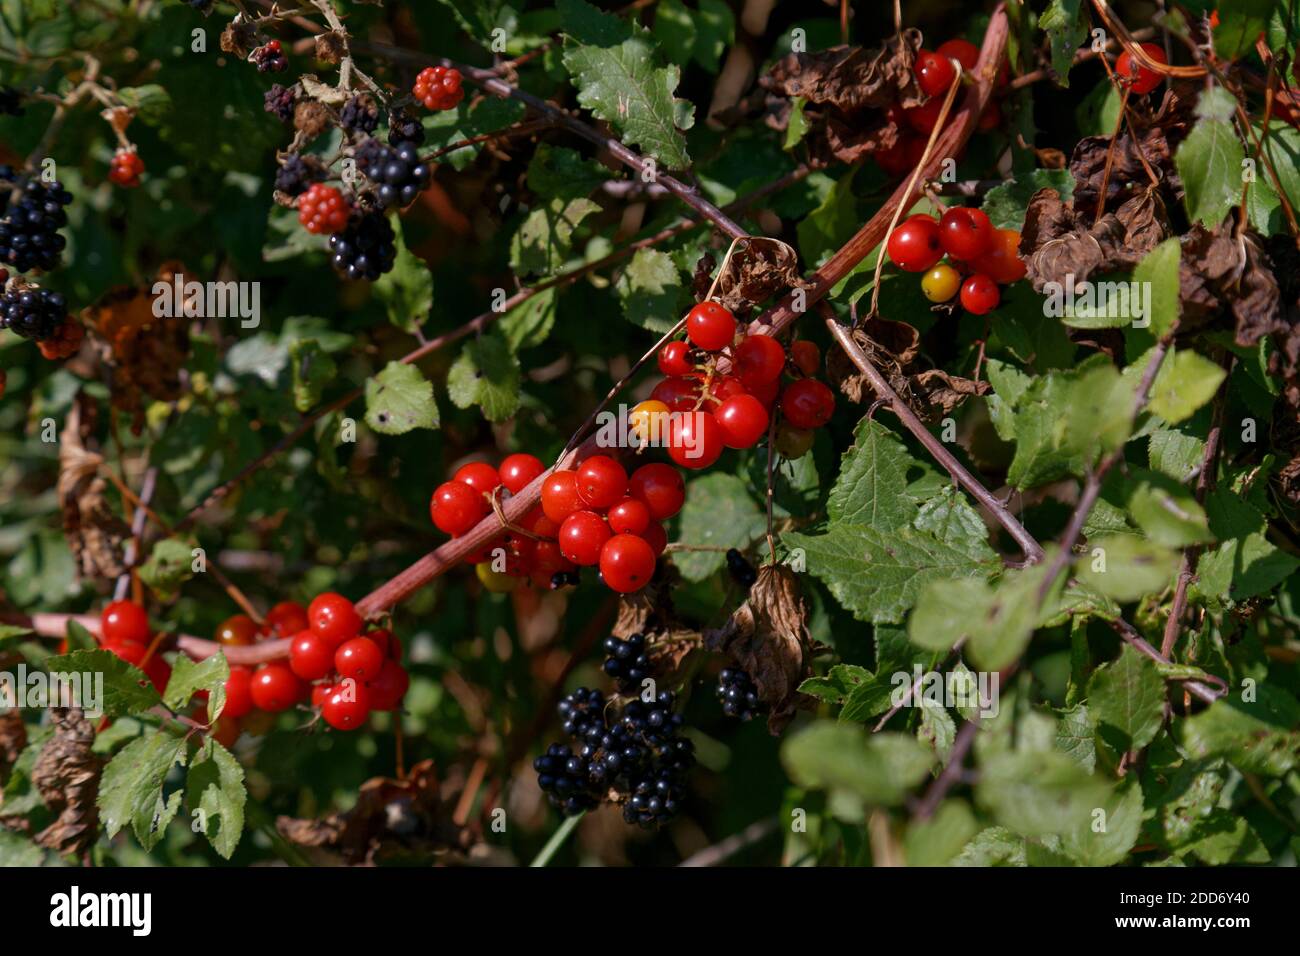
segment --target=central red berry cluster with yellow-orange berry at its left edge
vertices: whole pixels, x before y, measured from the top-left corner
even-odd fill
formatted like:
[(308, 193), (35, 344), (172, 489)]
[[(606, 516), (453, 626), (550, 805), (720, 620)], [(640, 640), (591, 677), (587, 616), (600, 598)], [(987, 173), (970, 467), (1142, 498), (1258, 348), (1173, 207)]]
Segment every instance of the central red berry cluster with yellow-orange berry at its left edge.
[[(701, 302), (686, 315), (686, 339), (659, 350), (667, 377), (650, 398), (632, 410), (629, 424), (642, 441), (666, 438), (668, 457), (682, 468), (707, 468), (724, 447), (753, 447), (768, 431), (774, 410), (781, 414), (776, 447), (798, 458), (812, 445), (812, 429), (831, 420), (835, 394), (812, 376), (820, 351), (798, 341), (785, 349), (762, 333), (736, 341), (736, 317), (716, 302)], [(694, 346), (694, 347), (692, 347)], [(716, 371), (719, 354), (731, 359), (731, 373)], [(794, 380), (783, 385), (786, 369)], [(667, 429), (656, 423), (667, 421)]]

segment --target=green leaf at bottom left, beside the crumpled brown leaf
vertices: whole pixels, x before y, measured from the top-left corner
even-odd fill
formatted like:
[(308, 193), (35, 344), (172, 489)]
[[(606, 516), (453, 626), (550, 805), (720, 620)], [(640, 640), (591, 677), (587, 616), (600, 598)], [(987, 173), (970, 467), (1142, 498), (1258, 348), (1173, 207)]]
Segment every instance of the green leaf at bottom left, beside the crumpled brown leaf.
[(104, 767), (99, 816), (113, 838), (130, 823), (146, 849), (153, 849), (181, 806), (181, 792), (162, 797), (162, 782), (174, 763), (185, 763), (183, 737), (155, 730), (124, 747)]

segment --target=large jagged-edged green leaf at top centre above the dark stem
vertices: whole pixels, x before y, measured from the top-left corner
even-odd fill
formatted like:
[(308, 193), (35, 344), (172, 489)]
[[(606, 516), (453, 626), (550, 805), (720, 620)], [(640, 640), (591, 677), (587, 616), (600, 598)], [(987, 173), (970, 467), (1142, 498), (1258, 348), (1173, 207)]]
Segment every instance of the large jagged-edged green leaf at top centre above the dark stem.
[[(589, 4), (564, 3), (564, 8), (580, 7)], [(627, 39), (616, 40), (612, 35), (592, 34), (582, 39), (575, 36), (571, 27), (566, 29), (569, 33), (564, 43), (564, 66), (577, 87), (577, 101), (611, 124), (625, 143), (641, 147), (663, 166), (685, 169), (690, 165), (681, 130), (694, 124), (694, 107), (673, 96), (681, 70), (655, 65), (649, 31), (633, 27)]]

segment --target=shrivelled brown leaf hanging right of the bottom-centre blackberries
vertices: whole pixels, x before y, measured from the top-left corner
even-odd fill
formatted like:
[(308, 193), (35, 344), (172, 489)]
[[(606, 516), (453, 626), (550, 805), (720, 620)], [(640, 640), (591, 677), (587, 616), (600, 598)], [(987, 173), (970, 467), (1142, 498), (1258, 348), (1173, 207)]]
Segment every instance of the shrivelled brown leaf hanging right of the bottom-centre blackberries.
[(720, 628), (705, 632), (711, 650), (731, 654), (754, 680), (772, 734), (780, 734), (794, 711), (809, 704), (798, 692), (812, 674), (807, 615), (794, 572), (784, 564), (764, 564), (749, 600)]

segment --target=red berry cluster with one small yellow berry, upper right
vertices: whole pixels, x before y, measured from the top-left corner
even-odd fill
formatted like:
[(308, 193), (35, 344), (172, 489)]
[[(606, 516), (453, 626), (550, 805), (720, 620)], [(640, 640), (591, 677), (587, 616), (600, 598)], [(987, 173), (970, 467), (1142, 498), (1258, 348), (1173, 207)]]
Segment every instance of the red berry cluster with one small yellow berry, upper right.
[[(953, 207), (936, 220), (918, 213), (898, 225), (885, 243), (904, 272), (924, 272), (920, 289), (931, 302), (961, 295), (962, 308), (985, 315), (1001, 302), (1000, 285), (1024, 277), (1020, 234), (996, 229), (980, 209)], [(948, 256), (948, 263), (939, 260)]]

